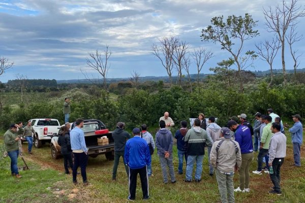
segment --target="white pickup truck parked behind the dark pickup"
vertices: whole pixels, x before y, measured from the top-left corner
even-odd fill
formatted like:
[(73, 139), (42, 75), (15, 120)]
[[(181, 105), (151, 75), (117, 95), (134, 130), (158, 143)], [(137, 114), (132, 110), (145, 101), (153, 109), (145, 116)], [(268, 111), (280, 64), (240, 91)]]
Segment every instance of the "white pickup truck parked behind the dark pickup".
[(60, 124), (56, 119), (35, 118), (29, 120), (32, 123), (35, 134), (33, 134), (34, 146), (40, 148), (43, 144), (51, 143), (53, 133), (57, 133)]

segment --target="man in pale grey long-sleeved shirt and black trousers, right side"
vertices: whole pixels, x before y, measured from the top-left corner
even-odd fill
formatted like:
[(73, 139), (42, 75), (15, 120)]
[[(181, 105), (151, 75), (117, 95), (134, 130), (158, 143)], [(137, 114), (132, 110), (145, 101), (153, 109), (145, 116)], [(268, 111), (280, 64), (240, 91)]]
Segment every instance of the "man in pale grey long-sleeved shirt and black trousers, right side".
[(284, 163), (284, 157), (286, 157), (286, 136), (281, 132), (281, 124), (279, 122), (272, 123), (271, 130), (274, 133), (270, 141), (269, 148), (269, 166), (272, 166), (273, 173), (270, 173), (270, 179), (273, 183), (273, 187), (270, 194), (281, 195), (281, 166)]

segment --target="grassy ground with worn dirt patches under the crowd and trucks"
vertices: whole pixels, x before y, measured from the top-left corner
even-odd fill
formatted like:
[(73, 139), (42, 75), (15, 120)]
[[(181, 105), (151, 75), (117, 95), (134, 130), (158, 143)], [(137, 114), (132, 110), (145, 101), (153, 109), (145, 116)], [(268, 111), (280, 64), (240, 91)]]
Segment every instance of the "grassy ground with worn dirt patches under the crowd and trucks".
[[(236, 202), (305, 202), (305, 162), (302, 158), (302, 167), (290, 166), (293, 163), (290, 134), (287, 134), (287, 138), (287, 157), (281, 171), (283, 195), (275, 196), (267, 193), (272, 186), (268, 175), (251, 173), (250, 192), (236, 193)], [(26, 147), (27, 144), (24, 143), (23, 149)], [(89, 158), (87, 176), (90, 185), (74, 186), (72, 176), (63, 173), (63, 159), (53, 160), (48, 144), (33, 151), (33, 155), (24, 155), (30, 170), (21, 171), (22, 179), (19, 180), (10, 176), (10, 159), (5, 159), (5, 169), (0, 173), (0, 202), (127, 202), (128, 179), (122, 161), (118, 167), (117, 180), (113, 182), (111, 180), (113, 161), (107, 161), (103, 155)], [(301, 151), (304, 152), (305, 148), (302, 147)], [(175, 146), (173, 153), (176, 171), (178, 160)], [(257, 153), (250, 172), (256, 170), (256, 157)], [(183, 181), (185, 174), (176, 174), (177, 183), (163, 184), (156, 153), (153, 155), (152, 163), (154, 177), (149, 179), (149, 202), (220, 202), (216, 177), (208, 175), (206, 156), (200, 183), (185, 183)], [(21, 159), (18, 159), (18, 165), (23, 166)], [(78, 180), (81, 182), (81, 176), (78, 176)], [(234, 185), (235, 188), (238, 186), (238, 174), (235, 174)], [(142, 202), (141, 197), (142, 191), (138, 180), (136, 202)]]

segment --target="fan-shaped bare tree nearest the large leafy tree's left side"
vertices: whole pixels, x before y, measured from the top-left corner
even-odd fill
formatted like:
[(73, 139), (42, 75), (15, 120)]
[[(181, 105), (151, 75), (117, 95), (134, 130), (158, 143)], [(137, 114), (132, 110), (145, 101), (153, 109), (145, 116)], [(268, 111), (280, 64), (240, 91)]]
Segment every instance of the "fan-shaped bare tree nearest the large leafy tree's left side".
[(203, 47), (200, 47), (198, 50), (194, 49), (194, 52), (191, 54), (196, 62), (197, 66), (197, 84), (199, 85), (199, 75), (202, 70), (203, 65), (210, 58), (214, 57), (214, 54), (211, 51), (207, 51)]

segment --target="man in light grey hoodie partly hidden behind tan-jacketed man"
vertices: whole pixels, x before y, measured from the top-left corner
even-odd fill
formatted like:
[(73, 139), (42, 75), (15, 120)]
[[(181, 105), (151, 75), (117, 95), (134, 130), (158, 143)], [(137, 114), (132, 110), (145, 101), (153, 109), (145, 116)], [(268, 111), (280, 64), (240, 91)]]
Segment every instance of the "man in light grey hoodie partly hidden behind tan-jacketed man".
[[(215, 123), (215, 117), (211, 116), (208, 118), (208, 124), (206, 127), (206, 132), (211, 136), (212, 141), (215, 142), (220, 138), (221, 127)], [(207, 147), (208, 163), (209, 163), (209, 175), (213, 176), (214, 168), (210, 162), (210, 152), (212, 147)]]

